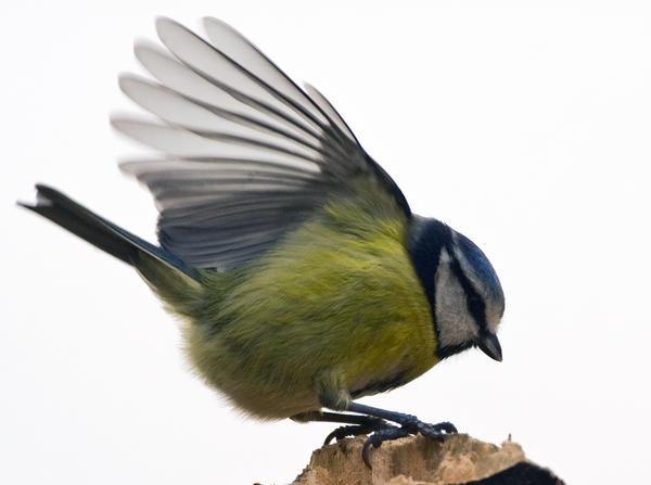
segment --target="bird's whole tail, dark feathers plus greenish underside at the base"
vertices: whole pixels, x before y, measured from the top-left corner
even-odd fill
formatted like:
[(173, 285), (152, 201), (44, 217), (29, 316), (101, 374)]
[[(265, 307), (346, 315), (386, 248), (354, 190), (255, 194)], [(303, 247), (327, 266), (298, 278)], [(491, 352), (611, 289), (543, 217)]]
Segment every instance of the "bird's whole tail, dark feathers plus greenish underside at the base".
[(190, 316), (196, 293), (201, 289), (200, 273), (195, 268), (163, 247), (98, 216), (51, 187), (37, 184), (36, 190), (36, 205), (23, 202), (18, 202), (18, 205), (133, 266), (173, 311)]

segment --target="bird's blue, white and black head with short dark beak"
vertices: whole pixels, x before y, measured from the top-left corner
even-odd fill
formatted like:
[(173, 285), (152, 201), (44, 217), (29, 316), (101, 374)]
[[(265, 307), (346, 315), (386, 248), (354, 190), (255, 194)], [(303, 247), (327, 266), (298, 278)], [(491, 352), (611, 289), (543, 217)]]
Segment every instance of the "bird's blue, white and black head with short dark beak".
[(463, 234), (425, 218), (413, 222), (409, 253), (432, 308), (437, 356), (476, 346), (501, 361), (496, 333), (505, 295), (486, 255)]

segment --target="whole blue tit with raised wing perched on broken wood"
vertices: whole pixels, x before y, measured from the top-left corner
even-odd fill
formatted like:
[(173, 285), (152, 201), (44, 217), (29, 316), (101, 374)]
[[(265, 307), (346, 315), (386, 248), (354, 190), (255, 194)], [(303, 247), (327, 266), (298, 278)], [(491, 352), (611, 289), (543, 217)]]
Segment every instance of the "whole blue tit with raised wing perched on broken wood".
[[(153, 149), (120, 164), (158, 210), (154, 244), (37, 184), (27, 209), (133, 267), (182, 321), (206, 384), (248, 417), (339, 423), (372, 448), (457, 432), (358, 403), (472, 347), (501, 361), (505, 295), (486, 255), (411, 212), (333, 105), (227, 23), (156, 20), (151, 77), (119, 87), (149, 117), (113, 126)], [(153, 115), (153, 116), (151, 116)]]

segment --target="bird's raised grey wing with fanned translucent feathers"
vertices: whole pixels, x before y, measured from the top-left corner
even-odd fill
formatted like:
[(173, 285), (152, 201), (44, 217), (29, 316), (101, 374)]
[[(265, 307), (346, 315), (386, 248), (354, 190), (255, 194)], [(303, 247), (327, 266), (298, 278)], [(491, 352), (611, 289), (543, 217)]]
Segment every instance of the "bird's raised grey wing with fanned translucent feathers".
[(315, 88), (298, 88), (227, 24), (206, 18), (209, 42), (168, 18), (158, 37), (173, 55), (137, 43), (157, 79), (120, 88), (161, 123), (114, 118), (162, 152), (127, 162), (154, 195), (158, 239), (201, 268), (230, 269), (271, 247), (324, 201), (372, 178), (410, 216), (405, 196)]

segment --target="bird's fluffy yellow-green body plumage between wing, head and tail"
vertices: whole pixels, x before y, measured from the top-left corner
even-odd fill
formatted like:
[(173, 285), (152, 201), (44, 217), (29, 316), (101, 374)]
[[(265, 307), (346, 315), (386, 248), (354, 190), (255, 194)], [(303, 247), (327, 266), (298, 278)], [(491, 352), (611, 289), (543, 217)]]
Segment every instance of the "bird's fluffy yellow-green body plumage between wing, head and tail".
[(199, 373), (244, 412), (275, 419), (320, 408), (319, 393), (372, 394), (434, 366), (404, 222), (369, 227), (305, 224), (234, 278), (210, 321), (188, 330)]

